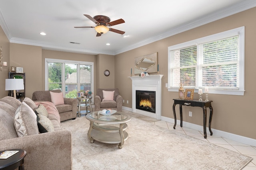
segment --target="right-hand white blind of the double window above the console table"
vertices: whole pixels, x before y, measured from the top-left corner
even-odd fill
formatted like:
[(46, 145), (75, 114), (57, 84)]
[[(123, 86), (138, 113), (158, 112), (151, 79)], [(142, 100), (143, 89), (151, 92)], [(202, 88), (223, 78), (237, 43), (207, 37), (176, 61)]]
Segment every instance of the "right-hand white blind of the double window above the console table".
[(238, 36), (204, 43), (202, 55), (202, 86), (239, 89)]

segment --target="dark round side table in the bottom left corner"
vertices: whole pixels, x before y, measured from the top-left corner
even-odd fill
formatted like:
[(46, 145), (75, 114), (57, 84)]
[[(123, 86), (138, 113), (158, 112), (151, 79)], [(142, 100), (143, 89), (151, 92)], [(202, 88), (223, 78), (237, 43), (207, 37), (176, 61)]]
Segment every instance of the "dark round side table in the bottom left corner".
[[(8, 150), (18, 150), (19, 152), (12, 155), (7, 159), (0, 159), (0, 170), (14, 170), (19, 167), (19, 170), (24, 170), (24, 158), (27, 154), (25, 150), (22, 149), (8, 149)], [(0, 153), (5, 150), (0, 151)]]

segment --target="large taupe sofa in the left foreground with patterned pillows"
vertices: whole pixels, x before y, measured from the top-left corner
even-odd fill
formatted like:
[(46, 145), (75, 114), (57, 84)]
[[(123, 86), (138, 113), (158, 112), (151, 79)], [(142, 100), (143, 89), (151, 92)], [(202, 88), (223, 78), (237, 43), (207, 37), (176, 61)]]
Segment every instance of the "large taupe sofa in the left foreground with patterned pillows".
[(38, 123), (34, 119), (34, 110), (39, 108), (39, 103), (36, 105), (29, 98), (21, 103), (10, 96), (0, 99), (0, 150), (25, 150), (26, 170), (70, 170), (71, 132), (60, 127), (60, 115), (51, 102), (40, 104), (46, 106), (48, 111), (48, 120), (53, 126), (50, 132), (39, 133)]

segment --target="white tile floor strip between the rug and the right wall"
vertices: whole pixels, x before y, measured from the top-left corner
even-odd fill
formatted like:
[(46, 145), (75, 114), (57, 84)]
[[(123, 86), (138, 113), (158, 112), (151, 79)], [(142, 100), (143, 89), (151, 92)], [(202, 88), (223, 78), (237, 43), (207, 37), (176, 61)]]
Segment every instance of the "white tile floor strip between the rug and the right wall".
[(169, 123), (166, 121), (158, 121), (154, 118), (150, 118), (144, 115), (140, 115), (138, 113), (132, 113), (127, 110), (122, 110), (125, 113), (129, 113), (131, 116), (136, 117), (138, 119), (142, 119), (144, 121), (148, 121), (154, 125), (158, 125), (160, 127), (164, 127), (166, 129), (169, 129), (170, 131), (176, 131), (179, 133), (183, 133), (185, 135), (191, 136), (191, 137), (196, 137), (198, 139), (201, 139), (206, 142), (213, 143), (215, 145), (218, 145), (220, 147), (224, 147), (226, 149), (233, 150), (235, 152), (239, 152), (241, 154), (250, 156), (253, 158), (251, 162), (249, 162), (243, 170), (256, 170), (256, 147), (252, 147), (243, 143), (239, 143), (236, 141), (232, 141), (223, 137), (212, 137), (210, 134), (207, 134), (207, 139), (204, 139), (204, 132), (203, 131), (198, 131), (194, 129), (190, 129), (187, 127), (180, 127), (180, 125), (176, 125), (176, 129), (173, 129), (174, 124)]

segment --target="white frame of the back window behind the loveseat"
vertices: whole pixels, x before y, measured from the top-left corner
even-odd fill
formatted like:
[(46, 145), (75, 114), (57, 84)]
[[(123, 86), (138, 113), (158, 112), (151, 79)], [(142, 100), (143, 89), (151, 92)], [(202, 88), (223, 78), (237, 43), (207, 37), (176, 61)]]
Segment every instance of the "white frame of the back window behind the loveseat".
[[(52, 63), (62, 63), (62, 69), (65, 70), (65, 64), (84, 64), (84, 65), (92, 65), (92, 92), (94, 90), (94, 63), (93, 62), (86, 62), (86, 61), (72, 61), (72, 60), (61, 60), (61, 59), (48, 59), (48, 58), (45, 58), (44, 59), (44, 89), (45, 90), (48, 90), (47, 87), (48, 87), (48, 63), (49, 62), (52, 62)], [(80, 69), (78, 69), (78, 74), (80, 74)], [(65, 80), (65, 75), (62, 74), (62, 80)], [(78, 76), (78, 82), (80, 82), (80, 76)], [(65, 82), (62, 82), (63, 84), (63, 90), (65, 91), (66, 90), (66, 85), (65, 85)], [(78, 88), (78, 87), (76, 87)], [(63, 96), (65, 95), (65, 93), (63, 93)]]

